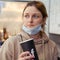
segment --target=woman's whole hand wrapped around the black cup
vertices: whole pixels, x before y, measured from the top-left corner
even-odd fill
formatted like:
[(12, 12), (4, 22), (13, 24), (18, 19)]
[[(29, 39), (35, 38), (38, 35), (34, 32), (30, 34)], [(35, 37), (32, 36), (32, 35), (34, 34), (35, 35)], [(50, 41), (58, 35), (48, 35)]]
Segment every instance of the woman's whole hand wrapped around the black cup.
[(33, 58), (34, 56), (31, 55), (30, 52), (26, 51), (19, 55), (18, 60), (34, 60)]

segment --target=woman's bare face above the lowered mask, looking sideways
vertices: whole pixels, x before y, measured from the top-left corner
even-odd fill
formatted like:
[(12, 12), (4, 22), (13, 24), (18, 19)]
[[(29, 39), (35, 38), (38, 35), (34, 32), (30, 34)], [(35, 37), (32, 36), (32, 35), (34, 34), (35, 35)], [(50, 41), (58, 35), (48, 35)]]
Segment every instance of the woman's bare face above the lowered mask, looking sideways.
[(28, 6), (24, 11), (23, 24), (28, 27), (34, 27), (42, 24), (43, 16), (41, 12), (34, 6)]

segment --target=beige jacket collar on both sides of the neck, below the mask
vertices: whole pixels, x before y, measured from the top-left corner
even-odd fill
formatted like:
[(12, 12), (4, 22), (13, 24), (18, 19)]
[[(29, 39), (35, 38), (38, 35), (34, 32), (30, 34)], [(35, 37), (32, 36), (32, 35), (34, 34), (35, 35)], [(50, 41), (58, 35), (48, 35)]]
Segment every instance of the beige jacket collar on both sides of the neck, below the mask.
[[(24, 32), (23, 30), (21, 31), (20, 35), (22, 36), (22, 39), (23, 40), (27, 40), (27, 39), (30, 39), (31, 37), (26, 33)], [(34, 40), (35, 44), (46, 44), (48, 43), (49, 41), (49, 38), (47, 37), (46, 33), (43, 32), (43, 36), (42, 38), (39, 38), (38, 40)]]

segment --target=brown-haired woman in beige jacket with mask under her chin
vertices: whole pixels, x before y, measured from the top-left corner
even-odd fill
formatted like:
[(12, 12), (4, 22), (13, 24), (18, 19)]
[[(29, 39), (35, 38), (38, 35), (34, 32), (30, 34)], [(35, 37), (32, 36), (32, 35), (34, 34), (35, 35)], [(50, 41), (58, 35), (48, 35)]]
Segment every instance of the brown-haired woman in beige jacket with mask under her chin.
[(29, 2), (23, 10), (23, 26), (19, 35), (6, 40), (0, 50), (0, 60), (33, 60), (29, 51), (23, 52), (20, 42), (34, 38), (39, 60), (57, 60), (57, 47), (44, 32), (47, 18), (44, 4)]

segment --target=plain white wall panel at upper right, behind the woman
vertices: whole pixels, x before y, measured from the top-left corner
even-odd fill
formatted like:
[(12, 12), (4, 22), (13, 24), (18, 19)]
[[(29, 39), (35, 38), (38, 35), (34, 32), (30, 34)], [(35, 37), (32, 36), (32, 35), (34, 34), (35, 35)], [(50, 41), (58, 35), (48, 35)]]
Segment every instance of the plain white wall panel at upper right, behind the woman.
[(50, 33), (60, 34), (60, 0), (50, 1)]

